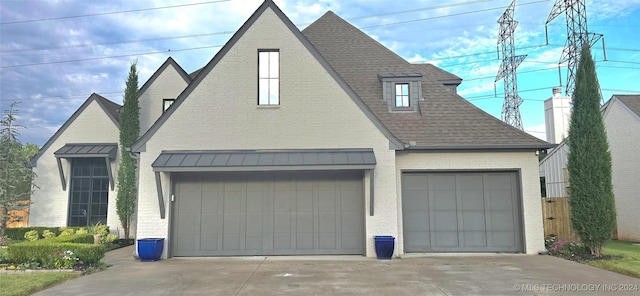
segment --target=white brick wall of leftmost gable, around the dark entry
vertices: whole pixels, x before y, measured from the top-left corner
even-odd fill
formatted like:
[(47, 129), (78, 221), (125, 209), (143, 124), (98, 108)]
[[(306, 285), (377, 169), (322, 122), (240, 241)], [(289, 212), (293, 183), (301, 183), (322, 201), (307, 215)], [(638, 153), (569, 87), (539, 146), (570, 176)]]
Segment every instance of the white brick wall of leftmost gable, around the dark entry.
[[(69, 190), (71, 177), (71, 163), (62, 159), (67, 190), (62, 190), (58, 164), (53, 153), (67, 143), (118, 143), (118, 127), (100, 107), (98, 102), (92, 101), (87, 108), (69, 125), (55, 142), (43, 151), (38, 159), (37, 166), (33, 168), (37, 177), (36, 189), (31, 195), (29, 213), (29, 226), (58, 227), (67, 225), (67, 212), (69, 209)], [(120, 151), (115, 161), (111, 162), (111, 170), (114, 179), (117, 177), (118, 163), (120, 163)], [(121, 230), (120, 221), (116, 214), (117, 187), (109, 191), (109, 206), (107, 210), (107, 225), (113, 233)]]

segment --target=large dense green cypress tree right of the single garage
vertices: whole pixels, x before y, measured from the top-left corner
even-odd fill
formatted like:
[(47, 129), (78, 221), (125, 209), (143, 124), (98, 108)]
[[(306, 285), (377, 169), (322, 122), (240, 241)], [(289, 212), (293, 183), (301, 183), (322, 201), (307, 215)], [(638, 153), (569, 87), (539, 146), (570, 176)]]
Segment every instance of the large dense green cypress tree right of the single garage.
[(580, 55), (568, 139), (571, 225), (591, 254), (600, 257), (616, 219), (611, 153), (589, 47), (584, 46)]

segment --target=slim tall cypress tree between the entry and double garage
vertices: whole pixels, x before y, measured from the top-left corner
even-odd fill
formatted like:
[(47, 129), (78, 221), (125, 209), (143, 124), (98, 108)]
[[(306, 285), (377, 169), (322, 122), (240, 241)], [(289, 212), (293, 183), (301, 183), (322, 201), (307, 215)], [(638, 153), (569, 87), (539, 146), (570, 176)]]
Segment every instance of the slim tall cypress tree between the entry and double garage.
[(131, 222), (136, 210), (136, 160), (127, 151), (140, 134), (140, 106), (138, 104), (137, 62), (131, 63), (129, 77), (124, 90), (124, 103), (120, 114), (120, 167), (118, 168), (118, 197), (116, 212), (124, 228), (125, 238), (129, 238)]

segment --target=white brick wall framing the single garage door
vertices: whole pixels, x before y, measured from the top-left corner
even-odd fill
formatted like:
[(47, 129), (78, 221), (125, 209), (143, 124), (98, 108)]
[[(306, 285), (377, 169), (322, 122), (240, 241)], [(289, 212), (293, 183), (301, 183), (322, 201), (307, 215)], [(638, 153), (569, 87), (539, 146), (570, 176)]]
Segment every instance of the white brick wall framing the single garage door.
[[(534, 152), (502, 153), (407, 153), (396, 156), (396, 196), (402, 205), (401, 177), (403, 170), (520, 170), (518, 184), (522, 193), (523, 229), (525, 252), (536, 254), (544, 249), (542, 206), (540, 204), (540, 181), (538, 157)], [(398, 207), (397, 247), (402, 250), (402, 209)]]

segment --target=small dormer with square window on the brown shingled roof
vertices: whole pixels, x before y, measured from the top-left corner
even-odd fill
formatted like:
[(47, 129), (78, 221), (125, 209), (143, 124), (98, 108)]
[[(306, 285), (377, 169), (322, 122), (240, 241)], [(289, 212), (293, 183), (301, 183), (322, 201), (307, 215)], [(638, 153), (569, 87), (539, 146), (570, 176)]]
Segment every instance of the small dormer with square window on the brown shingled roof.
[(418, 111), (418, 101), (422, 99), (422, 74), (384, 73), (378, 74), (378, 78), (389, 112)]

